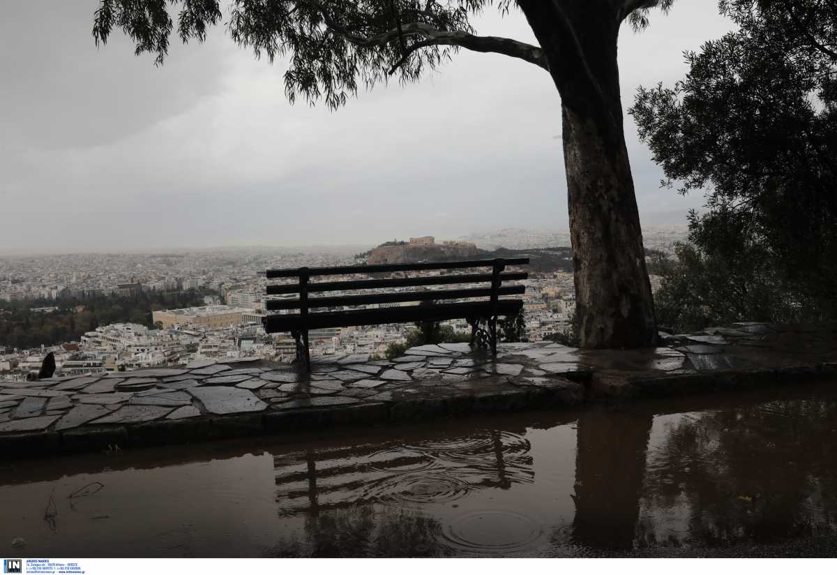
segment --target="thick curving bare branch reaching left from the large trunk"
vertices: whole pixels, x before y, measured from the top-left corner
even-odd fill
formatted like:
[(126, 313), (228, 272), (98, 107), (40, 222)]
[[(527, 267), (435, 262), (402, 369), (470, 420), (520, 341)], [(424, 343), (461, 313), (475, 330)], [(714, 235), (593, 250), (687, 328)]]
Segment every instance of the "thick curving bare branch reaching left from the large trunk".
[(387, 32), (380, 33), (377, 36), (367, 38), (366, 36), (360, 36), (352, 33), (347, 30), (347, 28), (341, 26), (340, 23), (337, 23), (333, 18), (331, 18), (328, 11), (326, 11), (320, 3), (317, 3), (316, 0), (300, 1), (310, 5), (312, 8), (315, 8), (319, 13), (321, 13), (326, 26), (332, 33), (342, 36), (352, 44), (360, 46), (361, 48), (380, 48), (394, 39), (406, 36), (424, 37), (424, 41), (408, 47), (408, 49), (404, 52), (403, 57), (398, 60), (396, 64), (393, 64), (390, 74), (392, 74), (395, 69), (398, 69), (399, 66), (403, 65), (404, 62), (407, 61), (409, 55), (413, 54), (416, 50), (426, 48), (428, 46), (438, 45), (458, 46), (474, 52), (505, 54), (506, 56), (511, 56), (511, 58), (526, 60), (526, 62), (535, 64), (542, 69), (549, 69), (547, 57), (543, 54), (543, 50), (537, 46), (526, 44), (525, 42), (518, 42), (517, 40), (500, 38), (497, 36), (475, 36), (474, 34), (462, 32), (460, 30), (439, 30), (423, 22), (406, 23), (401, 26), (397, 26), (396, 28), (392, 28)]

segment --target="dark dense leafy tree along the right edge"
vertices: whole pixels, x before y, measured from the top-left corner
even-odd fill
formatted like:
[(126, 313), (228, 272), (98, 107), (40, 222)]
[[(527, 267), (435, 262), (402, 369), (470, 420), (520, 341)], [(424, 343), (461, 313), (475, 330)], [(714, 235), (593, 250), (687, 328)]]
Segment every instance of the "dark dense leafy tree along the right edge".
[(661, 326), (837, 316), (837, 10), (722, 0), (739, 27), (630, 113), (680, 193), (708, 190), (663, 264)]

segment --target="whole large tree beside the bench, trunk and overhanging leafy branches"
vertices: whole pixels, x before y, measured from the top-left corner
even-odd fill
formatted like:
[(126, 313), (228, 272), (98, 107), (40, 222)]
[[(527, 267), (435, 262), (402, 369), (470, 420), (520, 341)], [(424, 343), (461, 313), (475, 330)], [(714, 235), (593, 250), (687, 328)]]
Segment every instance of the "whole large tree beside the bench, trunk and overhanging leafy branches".
[[(359, 86), (395, 75), (419, 80), (458, 49), (536, 65), (561, 95), (570, 233), (583, 347), (655, 345), (654, 302), (624, 142), (617, 43), (624, 22), (644, 28), (650, 10), (674, 0), (234, 0), (225, 26), (257, 57), (287, 62), (290, 101), (337, 108)], [(218, 0), (101, 0), (93, 35), (121, 28), (136, 54), (162, 64), (175, 30), (203, 41), (222, 22)], [(538, 45), (480, 36), (471, 19), (519, 9)]]

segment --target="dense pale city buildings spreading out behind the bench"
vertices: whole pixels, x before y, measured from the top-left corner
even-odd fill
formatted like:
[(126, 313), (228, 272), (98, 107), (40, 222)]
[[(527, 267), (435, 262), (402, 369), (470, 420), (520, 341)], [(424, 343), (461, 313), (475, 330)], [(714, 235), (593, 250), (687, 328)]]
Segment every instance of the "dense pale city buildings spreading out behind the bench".
[[(670, 245), (678, 238), (678, 231), (663, 233), (665, 241), (655, 245)], [(465, 245), (497, 247), (498, 235), (502, 237), (502, 233), (474, 235)], [(529, 239), (524, 245), (542, 247), (556, 235), (531, 232), (524, 236)], [(434, 243), (433, 238), (413, 239), (413, 243), (428, 241)], [(356, 251), (354, 247), (240, 248), (0, 259), (0, 326), (8, 327), (15, 311), (28, 311), (30, 331), (33, 323), (40, 321), (43, 325), (44, 317), (62, 313), (69, 314), (70, 325), (81, 326), (78, 337), (34, 341), (30, 346), (19, 345), (14, 331), (0, 331), (0, 378), (25, 379), (28, 373), (39, 370), (49, 352), (63, 374), (177, 366), (204, 358), (261, 357), (291, 362), (295, 342), (290, 334), (266, 334), (261, 323), (267, 314), (265, 302), (276, 297), (266, 295), (269, 282), (265, 270), (365, 264), (364, 254)], [(365, 277), (358, 274), (355, 279)], [(526, 338), (540, 341), (544, 336), (569, 331), (575, 309), (573, 275), (562, 270), (532, 271), (525, 284)], [(151, 309), (132, 308), (116, 315), (120, 321), (105, 325), (85, 316), (95, 302), (111, 305), (138, 300)], [(167, 308), (167, 301), (190, 305)], [(470, 333), (465, 320), (444, 323), (456, 334)], [(403, 343), (414, 329), (409, 324), (393, 324), (313, 330), (311, 353), (383, 357), (391, 344)], [(48, 338), (44, 336), (44, 340)]]

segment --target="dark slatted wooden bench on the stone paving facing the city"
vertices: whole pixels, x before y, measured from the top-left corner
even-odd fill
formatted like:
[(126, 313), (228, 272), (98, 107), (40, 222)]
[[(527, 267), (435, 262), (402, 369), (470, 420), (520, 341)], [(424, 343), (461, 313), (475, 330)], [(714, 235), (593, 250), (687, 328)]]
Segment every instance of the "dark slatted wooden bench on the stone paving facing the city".
[[(374, 326), (387, 323), (411, 323), (416, 321), (444, 321), (465, 319), (471, 326), (471, 345), (475, 342), (493, 354), (497, 353), (497, 317), (516, 316), (523, 309), (523, 300), (505, 299), (503, 295), (521, 295), (525, 285), (506, 285), (504, 281), (526, 280), (526, 272), (504, 272), (506, 266), (526, 265), (528, 258), (480, 259), (426, 264), (351, 265), (330, 268), (296, 268), (294, 270), (267, 270), (268, 279), (298, 278), (291, 284), (268, 285), (268, 295), (296, 294), (289, 299), (267, 301), (267, 309), (298, 310), (298, 313), (275, 314), (264, 317), (264, 331), (268, 333), (290, 332), (296, 342), (296, 357), (306, 367), (311, 367), (308, 348), (308, 331), (326, 327)], [(490, 268), (490, 273), (458, 275), (427, 275), (407, 277), (409, 271), (470, 270)], [(311, 282), (311, 278), (353, 274), (389, 274), (388, 278), (372, 280), (338, 280)], [(403, 277), (393, 277), (393, 275)], [(488, 284), (488, 287), (459, 289), (383, 291), (388, 288), (447, 286), (463, 284)], [(335, 291), (378, 290), (377, 293), (358, 295), (310, 294)], [(462, 300), (436, 303), (444, 300)], [(476, 300), (475, 300), (476, 299)], [(481, 299), (481, 300), (480, 300)], [(354, 305), (398, 304), (422, 302), (420, 305), (398, 305), (373, 309), (342, 308)], [(429, 304), (429, 305), (428, 305)], [(314, 311), (326, 310), (326, 311)], [(485, 327), (482, 327), (485, 325)]]

